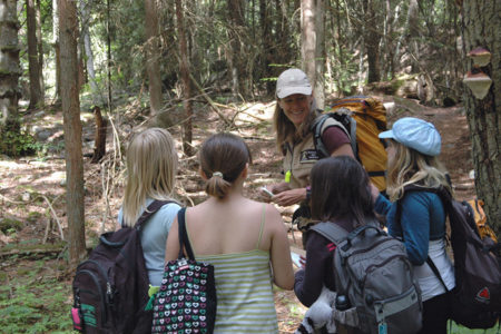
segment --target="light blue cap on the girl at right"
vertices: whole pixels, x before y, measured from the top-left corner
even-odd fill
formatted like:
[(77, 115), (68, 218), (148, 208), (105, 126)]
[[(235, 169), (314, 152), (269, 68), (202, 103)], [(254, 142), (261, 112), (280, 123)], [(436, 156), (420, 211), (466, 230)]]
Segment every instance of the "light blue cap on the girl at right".
[(381, 132), (380, 138), (391, 138), (400, 144), (413, 148), (426, 156), (440, 155), (442, 140), (436, 128), (425, 120), (404, 117), (393, 124), (391, 130)]

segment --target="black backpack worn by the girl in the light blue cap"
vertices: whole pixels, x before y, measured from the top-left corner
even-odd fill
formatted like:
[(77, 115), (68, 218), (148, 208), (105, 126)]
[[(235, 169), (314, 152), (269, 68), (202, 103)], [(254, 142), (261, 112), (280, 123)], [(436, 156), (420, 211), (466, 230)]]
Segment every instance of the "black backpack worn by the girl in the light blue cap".
[[(469, 328), (490, 328), (501, 315), (501, 266), (494, 245), (480, 237), (468, 203), (458, 202), (443, 187), (404, 187), (410, 191), (430, 191), (440, 196), (451, 226), (451, 246), (454, 258), (455, 287), (452, 289), (450, 317)], [(397, 200), (396, 222), (402, 217), (402, 199)], [(426, 263), (448, 291), (433, 261)]]

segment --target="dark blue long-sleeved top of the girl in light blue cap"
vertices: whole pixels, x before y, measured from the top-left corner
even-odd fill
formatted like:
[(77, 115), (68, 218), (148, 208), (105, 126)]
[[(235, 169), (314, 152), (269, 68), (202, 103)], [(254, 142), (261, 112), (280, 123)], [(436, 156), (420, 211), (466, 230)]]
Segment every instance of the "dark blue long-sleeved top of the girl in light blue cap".
[(380, 195), (375, 212), (386, 216), (391, 236), (402, 238), (409, 259), (413, 265), (426, 262), (430, 240), (445, 236), (445, 212), (439, 195), (428, 191), (411, 191), (402, 202), (402, 218), (395, 222), (396, 203)]

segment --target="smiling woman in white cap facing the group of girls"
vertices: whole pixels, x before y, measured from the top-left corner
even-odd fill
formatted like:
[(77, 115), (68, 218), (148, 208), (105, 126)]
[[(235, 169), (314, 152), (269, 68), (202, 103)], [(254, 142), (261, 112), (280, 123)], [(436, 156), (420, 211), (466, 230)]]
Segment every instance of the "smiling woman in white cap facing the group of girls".
[[(277, 148), (284, 155), (285, 179), (268, 185), (267, 189), (274, 194), (274, 203), (281, 206), (302, 203), (302, 207), (307, 210), (310, 171), (320, 159), (312, 125), (320, 116), (320, 110), (316, 109), (306, 73), (296, 68), (282, 72), (276, 84), (276, 99), (274, 127)], [(346, 130), (333, 119), (332, 122), (322, 134), (322, 141), (328, 153), (331, 156), (354, 157)]]

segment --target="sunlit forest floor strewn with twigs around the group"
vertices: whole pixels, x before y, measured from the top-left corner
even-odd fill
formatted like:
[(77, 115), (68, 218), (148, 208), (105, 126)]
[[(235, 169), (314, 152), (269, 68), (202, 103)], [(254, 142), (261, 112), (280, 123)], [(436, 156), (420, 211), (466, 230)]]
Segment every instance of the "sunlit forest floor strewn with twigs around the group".
[[(391, 97), (380, 98), (385, 102), (393, 101)], [(124, 153), (118, 147), (122, 149), (131, 132), (144, 126), (141, 121), (146, 118), (137, 106), (137, 102), (131, 102), (120, 109), (120, 119), (114, 117), (116, 131), (111, 127), (108, 129), (108, 154), (105, 159), (100, 164), (91, 164), (90, 158), (85, 158), (85, 226), (89, 247), (97, 243), (102, 229), (109, 230), (116, 226), (125, 180)], [(219, 111), (214, 112), (205, 105), (195, 105), (195, 149), (207, 136), (223, 130), (244, 137), (249, 145), (253, 165), (245, 191), (254, 198), (259, 186), (281, 178), (281, 155), (275, 148), (271, 121), (274, 106), (274, 101), (219, 105)], [(0, 320), (0, 327), (4, 333), (36, 333), (28, 327), (37, 326), (40, 328), (38, 333), (68, 333), (72, 273), (67, 269), (67, 249), (60, 244), (61, 234), (65, 239), (68, 237), (62, 114), (55, 108), (21, 114), (24, 124), (37, 134), (42, 151), (17, 159), (0, 157), (0, 318), (3, 318)], [(175, 124), (178, 122), (169, 130), (180, 151), (181, 110), (174, 109), (169, 115)], [(463, 108), (431, 108), (415, 100), (399, 99), (389, 114), (389, 122), (403, 116), (423, 118), (438, 127), (443, 140), (441, 159), (451, 174), (455, 196), (460, 199), (473, 198), (471, 144)], [(92, 151), (94, 116), (87, 109), (82, 111), (81, 119), (84, 153), (88, 154)], [(184, 204), (191, 206), (205, 198), (203, 183), (197, 174), (196, 157), (179, 154), (179, 158), (177, 194)], [(301, 234), (292, 229), (289, 223), (294, 207), (278, 209), (289, 227), (291, 243), (301, 245)], [(306, 308), (296, 299), (294, 292), (276, 289), (275, 301), (281, 333), (293, 333)], [(20, 305), (31, 310), (29, 317), (19, 314)]]

